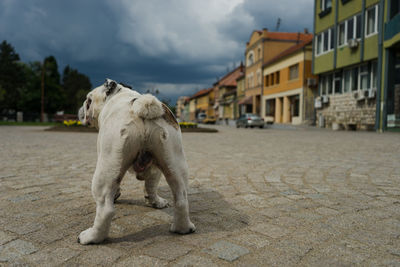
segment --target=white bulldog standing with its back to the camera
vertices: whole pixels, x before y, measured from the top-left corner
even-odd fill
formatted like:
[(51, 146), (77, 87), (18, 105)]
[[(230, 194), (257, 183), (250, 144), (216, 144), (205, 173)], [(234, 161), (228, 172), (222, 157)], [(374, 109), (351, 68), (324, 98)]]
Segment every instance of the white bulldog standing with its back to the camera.
[(182, 136), (167, 106), (154, 96), (141, 95), (107, 79), (87, 95), (79, 119), (82, 124), (99, 129), (92, 180), (96, 218), (93, 226), (79, 235), (79, 243), (99, 243), (107, 237), (114, 200), (120, 195), (119, 186), (128, 169), (144, 180), (145, 198), (155, 208), (168, 206), (157, 194), (162, 172), (175, 204), (170, 231), (180, 234), (195, 231), (189, 219), (188, 167)]

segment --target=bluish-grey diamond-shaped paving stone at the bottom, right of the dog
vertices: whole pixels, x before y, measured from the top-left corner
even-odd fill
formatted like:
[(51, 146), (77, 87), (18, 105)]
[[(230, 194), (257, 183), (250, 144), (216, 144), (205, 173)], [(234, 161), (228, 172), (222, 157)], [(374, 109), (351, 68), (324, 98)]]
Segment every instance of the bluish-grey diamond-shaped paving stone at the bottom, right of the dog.
[(250, 253), (247, 248), (227, 241), (218, 241), (211, 247), (205, 249), (204, 252), (229, 262), (237, 260), (241, 256)]

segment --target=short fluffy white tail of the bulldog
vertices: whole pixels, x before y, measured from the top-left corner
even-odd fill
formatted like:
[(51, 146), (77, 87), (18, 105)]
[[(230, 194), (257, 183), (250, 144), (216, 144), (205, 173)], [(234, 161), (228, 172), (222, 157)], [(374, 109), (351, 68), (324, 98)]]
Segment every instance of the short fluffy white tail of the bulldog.
[(141, 95), (134, 99), (132, 104), (133, 114), (142, 119), (156, 119), (164, 115), (162, 103), (150, 94)]

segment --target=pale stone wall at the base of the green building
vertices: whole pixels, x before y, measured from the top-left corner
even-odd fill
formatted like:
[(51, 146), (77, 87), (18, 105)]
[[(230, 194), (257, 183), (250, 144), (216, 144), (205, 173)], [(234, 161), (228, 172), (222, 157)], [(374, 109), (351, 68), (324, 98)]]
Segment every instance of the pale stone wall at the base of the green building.
[(321, 121), (320, 116), (324, 116), (325, 125), (320, 127), (332, 128), (334, 125), (340, 129), (372, 130), (375, 125), (376, 99), (357, 101), (353, 93), (330, 95), (329, 103), (322, 104), (316, 113), (318, 123)]

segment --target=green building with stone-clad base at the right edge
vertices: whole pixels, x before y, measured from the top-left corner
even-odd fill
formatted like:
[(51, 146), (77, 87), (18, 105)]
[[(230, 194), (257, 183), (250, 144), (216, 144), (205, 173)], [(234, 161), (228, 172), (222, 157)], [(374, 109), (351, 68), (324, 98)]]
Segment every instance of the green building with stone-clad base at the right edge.
[(316, 0), (313, 73), (322, 127), (400, 124), (400, 0)]

